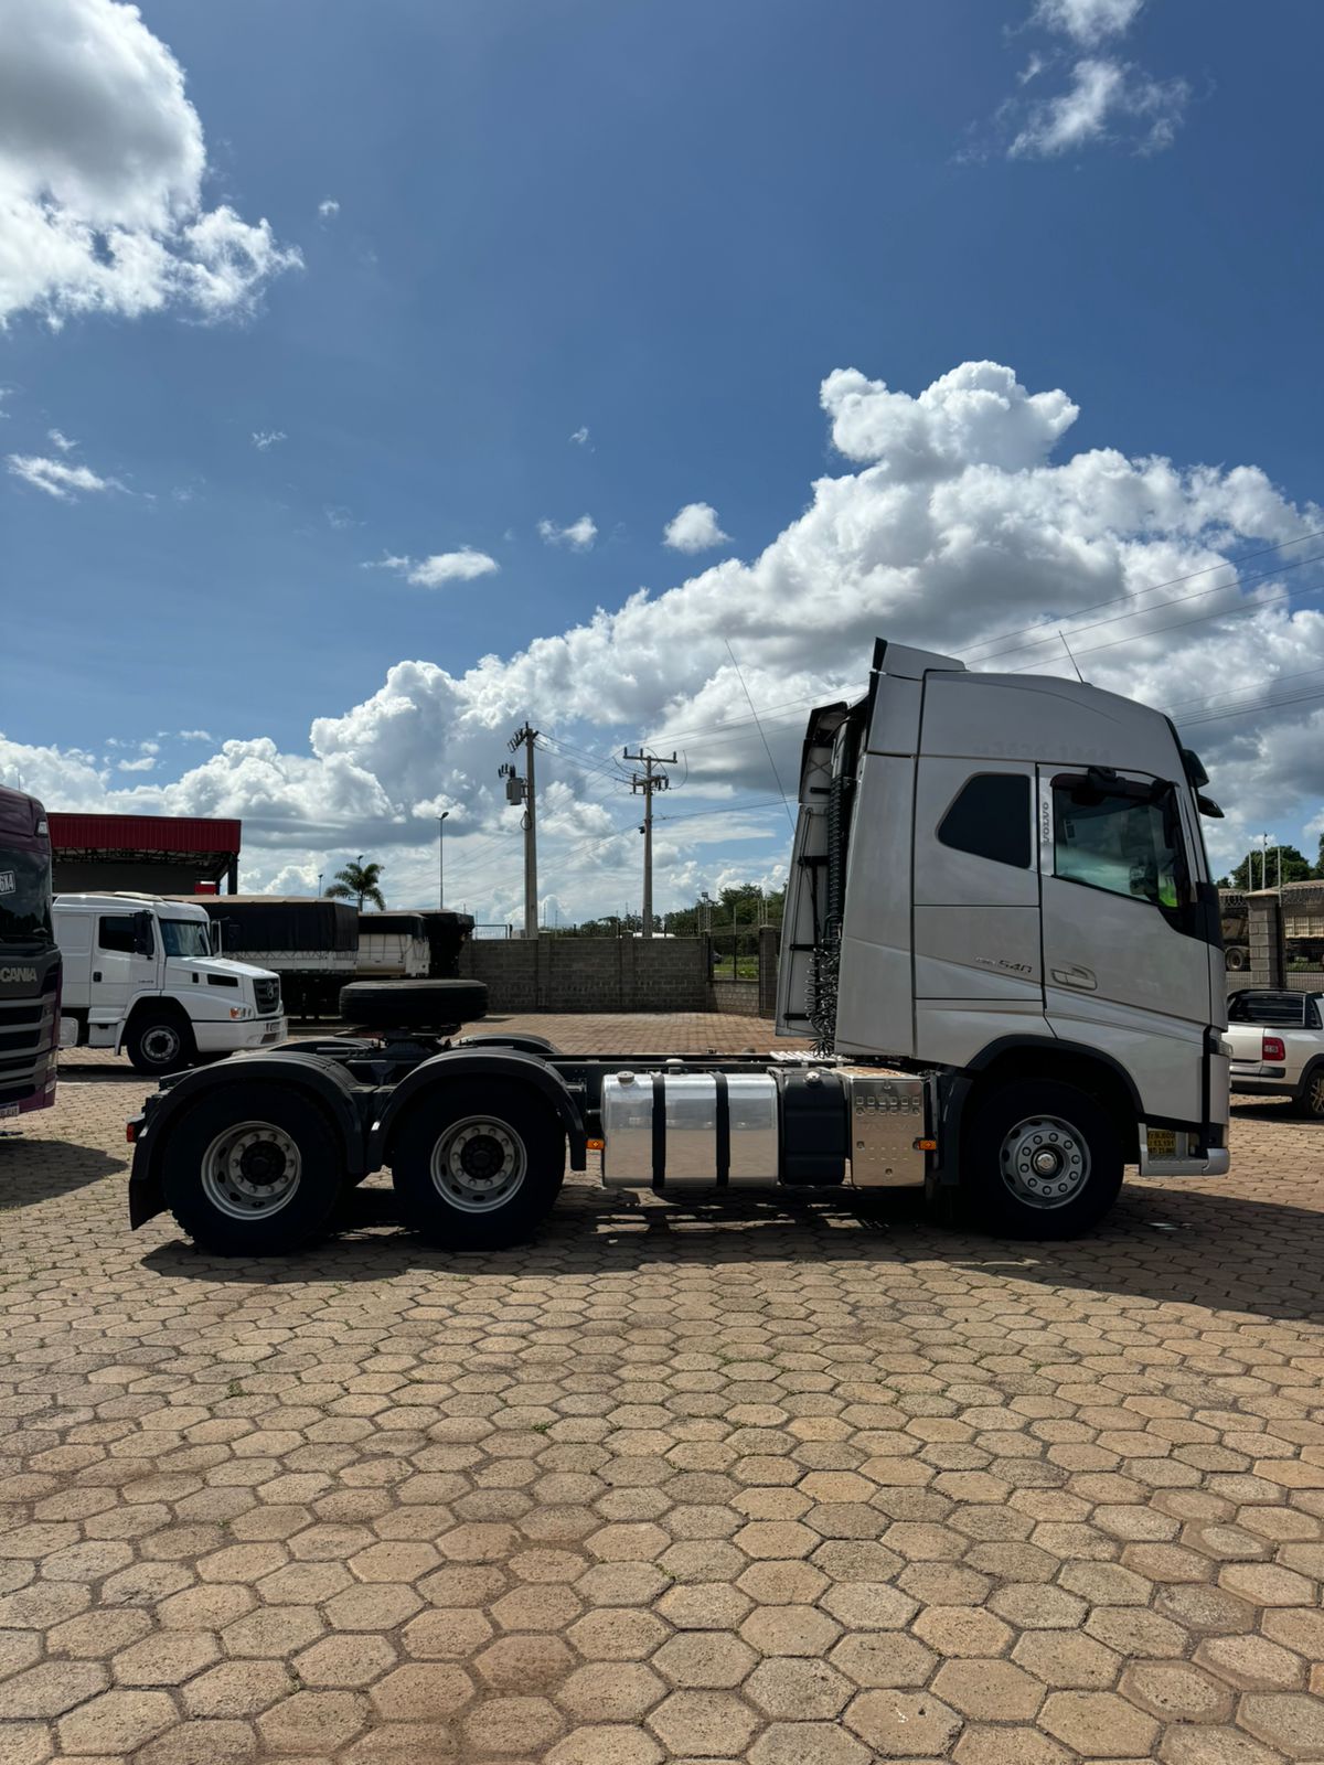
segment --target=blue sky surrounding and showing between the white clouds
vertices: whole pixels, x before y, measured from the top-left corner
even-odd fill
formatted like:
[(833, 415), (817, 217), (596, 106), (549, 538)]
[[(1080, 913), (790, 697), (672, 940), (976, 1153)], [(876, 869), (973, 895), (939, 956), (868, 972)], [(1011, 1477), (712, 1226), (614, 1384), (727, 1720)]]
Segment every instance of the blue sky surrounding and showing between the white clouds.
[[(51, 5), (124, 25), (113, 0)], [(205, 132), (198, 203), (231, 205), (245, 224), (265, 217), (302, 265), (254, 277), (226, 311), (187, 300), (72, 311), (65, 300), (56, 328), (58, 298), (41, 288), (11, 311), (0, 448), (83, 466), (108, 485), (49, 494), (49, 480), (42, 489), (18, 471), (0, 482), (11, 660), (0, 729), (11, 770), (42, 780), (51, 801), (117, 807), (131, 785), (164, 791), (164, 808), (247, 808), (260, 884), (316, 868), (334, 847), (390, 838), (401, 890), (420, 890), (417, 805), (454, 803), (461, 840), (500, 831), (487, 785), (519, 715), (602, 755), (685, 718), (711, 727), (731, 680), (711, 664), (696, 680), (678, 667), (676, 702), (641, 687), (632, 725), (591, 692), (567, 694), (565, 664), (540, 672), (535, 658), (501, 676), (496, 697), (512, 718), (473, 695), (438, 713), (455, 741), (438, 757), (436, 791), (420, 787), (418, 755), (395, 778), (380, 731), (362, 727), (335, 743), (353, 748), (380, 801), (362, 780), (337, 794), (335, 780), (307, 775), (284, 807), (263, 789), (249, 805), (252, 778), (235, 764), (217, 768), (224, 785), (187, 780), (226, 740), (265, 738), (272, 766), (297, 771), (314, 720), (365, 706), (402, 660), (461, 680), (484, 655), (524, 657), (533, 639), (620, 609), (641, 586), (662, 593), (722, 558), (752, 565), (791, 533), (814, 480), (858, 473), (865, 459), (833, 448), (819, 409), (833, 369), (914, 397), (964, 362), (1006, 364), (1029, 394), (1063, 388), (1079, 406), (1054, 464), (1112, 448), (1170, 459), (1177, 473), (1255, 466), (1282, 492), (1255, 519), (1232, 519), (1229, 501), (1218, 531), (1188, 521), (1169, 531), (1149, 517), (1116, 526), (1123, 563), (1128, 547), (1162, 542), (1177, 575), (1183, 563), (1207, 568), (1310, 530), (1324, 477), (1315, 7), (1280, 4), (1252, 19), (1222, 0), (1045, 0), (1038, 16), (1031, 0), (147, 0), (141, 21), (182, 67)], [(1049, 113), (1033, 106), (1068, 94), (1086, 62), (1121, 69), (1128, 97), (1096, 127), (1068, 118), (1064, 145), (1024, 145), (1047, 139)], [(79, 102), (76, 81), (60, 92)], [(113, 157), (115, 118), (97, 127)], [(37, 166), (34, 189), (42, 176)], [(62, 199), (76, 207), (78, 196)], [(328, 201), (335, 210), (320, 214)], [(60, 448), (51, 429), (76, 447)], [(258, 447), (254, 436), (279, 439)], [(982, 462), (974, 443), (964, 464)], [(703, 554), (662, 544), (690, 503), (711, 505), (729, 544)], [(538, 533), (584, 514), (591, 547)], [(496, 568), (436, 588), (404, 568), (365, 568), (463, 547)], [(1140, 581), (1162, 570), (1155, 552)], [(893, 582), (872, 605), (863, 593), (861, 612), (884, 634), (974, 642), (1105, 598), (1086, 575), (1038, 604), (990, 595), (964, 607), (957, 597), (934, 618), (925, 597), (941, 590), (897, 595)], [(812, 582), (810, 572), (794, 588), (809, 627)], [(1135, 588), (1125, 572), (1117, 584)], [(798, 628), (780, 642), (752, 634), (741, 597), (757, 607), (759, 593), (766, 584), (749, 577), (731, 588), (733, 646), (764, 681), (756, 702), (794, 697), (807, 674), (826, 685), (851, 674), (844, 655), (798, 648)], [(1197, 632), (1207, 642), (1216, 627)], [(1310, 621), (1271, 637), (1260, 672), (1266, 644), (1243, 646), (1236, 685), (1248, 697), (1275, 674), (1305, 676), (1324, 648)], [(687, 653), (694, 627), (681, 616), (648, 642), (660, 678), (669, 644)], [(858, 674), (867, 651), (854, 653)], [(628, 658), (616, 660), (628, 674)], [(1181, 664), (1172, 639), (1139, 644), (1137, 672), (1158, 680), (1167, 667), (1179, 680)], [(595, 657), (586, 669), (611, 665)], [(703, 715), (678, 710), (690, 702)], [(1229, 764), (1245, 770), (1259, 817), (1273, 768), (1252, 754), (1250, 731), (1282, 715), (1216, 736), (1211, 725), (1215, 743), (1239, 741)], [(1312, 717), (1310, 702), (1292, 706), (1303, 762), (1269, 785), (1283, 835), (1320, 808)], [(485, 766), (475, 731), (489, 725)], [(212, 740), (182, 741), (185, 729)], [(74, 759), (64, 770), (25, 759), (37, 748)], [(122, 773), (129, 755), (138, 771)], [(630, 821), (602, 773), (574, 775), (567, 761), (565, 784), (574, 801), (604, 803), (611, 826)], [(766, 800), (768, 785), (752, 752), (726, 778), (713, 755), (690, 801)], [(567, 849), (586, 824), (572, 800)], [(387, 835), (392, 815), (401, 831)], [(771, 875), (780, 856), (784, 821), (756, 817), (726, 845), (713, 821), (717, 831), (690, 826), (671, 854), (681, 895), (733, 865)], [(625, 879), (637, 847), (621, 852)], [(598, 909), (574, 856), (563, 870), (558, 909)], [(477, 861), (471, 874), (491, 911), (508, 911), (505, 877), (489, 881)]]

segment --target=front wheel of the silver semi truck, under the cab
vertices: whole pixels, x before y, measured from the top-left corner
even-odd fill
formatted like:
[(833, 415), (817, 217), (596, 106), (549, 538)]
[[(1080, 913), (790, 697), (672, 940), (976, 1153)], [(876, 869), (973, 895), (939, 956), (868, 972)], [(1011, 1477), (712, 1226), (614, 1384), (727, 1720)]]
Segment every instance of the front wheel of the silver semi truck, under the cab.
[[(1116, 1123), (1075, 1085), (1022, 1082), (990, 1091), (966, 1133), (973, 1211), (999, 1237), (1079, 1237), (1121, 1190)], [(1031, 1160), (1057, 1160), (1034, 1170)]]

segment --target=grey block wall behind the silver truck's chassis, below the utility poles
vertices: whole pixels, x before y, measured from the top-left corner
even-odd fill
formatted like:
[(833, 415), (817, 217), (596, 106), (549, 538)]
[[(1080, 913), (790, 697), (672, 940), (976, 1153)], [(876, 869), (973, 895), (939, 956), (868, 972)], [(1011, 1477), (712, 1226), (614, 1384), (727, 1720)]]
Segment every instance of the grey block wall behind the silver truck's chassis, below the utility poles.
[(706, 1011), (699, 937), (470, 939), (459, 971), (489, 1011)]

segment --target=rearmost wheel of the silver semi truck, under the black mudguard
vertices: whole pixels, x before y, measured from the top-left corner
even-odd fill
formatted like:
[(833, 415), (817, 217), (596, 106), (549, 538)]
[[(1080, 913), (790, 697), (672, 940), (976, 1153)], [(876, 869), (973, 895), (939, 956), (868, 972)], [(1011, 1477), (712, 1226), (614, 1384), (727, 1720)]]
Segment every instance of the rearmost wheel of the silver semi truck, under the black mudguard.
[(166, 1205), (217, 1257), (281, 1257), (312, 1243), (344, 1188), (332, 1124), (316, 1103), (270, 1084), (199, 1098), (157, 1156)]

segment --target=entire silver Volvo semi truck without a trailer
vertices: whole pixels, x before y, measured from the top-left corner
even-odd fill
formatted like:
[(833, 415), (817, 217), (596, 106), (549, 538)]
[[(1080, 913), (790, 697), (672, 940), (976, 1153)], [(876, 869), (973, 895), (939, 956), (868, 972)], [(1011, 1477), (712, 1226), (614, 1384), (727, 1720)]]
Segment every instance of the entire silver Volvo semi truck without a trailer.
[(344, 990), (358, 1034), (168, 1082), (129, 1126), (134, 1225), (288, 1251), (390, 1167), (431, 1241), (514, 1243), (568, 1161), (607, 1188), (923, 1186), (1068, 1237), (1126, 1165), (1227, 1172), (1229, 1050), (1204, 770), (1158, 711), (879, 642), (814, 711), (773, 1057), (450, 1041), (466, 981)]

